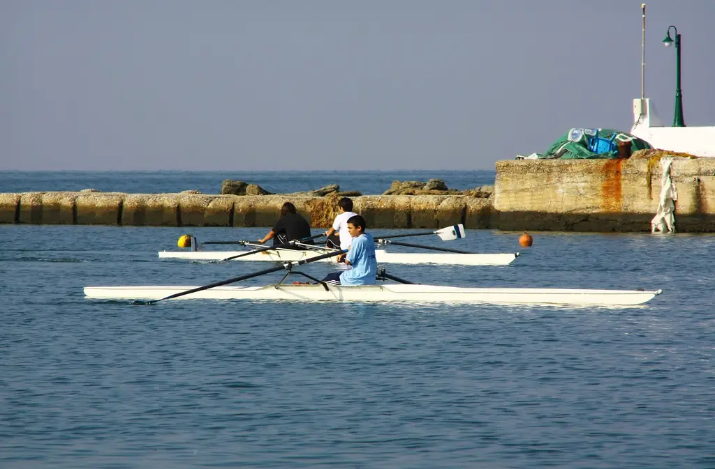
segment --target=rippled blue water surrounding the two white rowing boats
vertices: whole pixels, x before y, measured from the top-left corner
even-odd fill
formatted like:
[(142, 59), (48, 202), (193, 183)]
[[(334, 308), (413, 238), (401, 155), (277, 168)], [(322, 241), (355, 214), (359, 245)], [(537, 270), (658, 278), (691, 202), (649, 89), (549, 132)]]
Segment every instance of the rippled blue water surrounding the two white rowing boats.
[[(3, 190), (84, 186), (24, 174)], [(152, 192), (134, 176), (95, 175)], [(0, 468), (715, 468), (715, 236), (533, 233), (524, 249), (519, 233), (468, 231), (449, 246), (522, 256), (388, 266), (455, 286), (663, 288), (636, 308), (83, 296), (267, 268), (157, 258), (183, 233), (265, 231), (0, 225)]]

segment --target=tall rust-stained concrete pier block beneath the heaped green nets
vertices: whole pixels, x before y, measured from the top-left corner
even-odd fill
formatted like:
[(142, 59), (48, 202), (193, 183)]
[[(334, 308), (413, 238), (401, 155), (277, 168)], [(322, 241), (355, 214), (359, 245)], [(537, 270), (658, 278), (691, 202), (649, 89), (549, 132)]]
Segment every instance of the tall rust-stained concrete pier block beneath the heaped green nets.
[[(650, 231), (659, 158), (498, 161), (491, 226), (503, 230)], [(675, 221), (715, 232), (715, 158), (675, 158)]]

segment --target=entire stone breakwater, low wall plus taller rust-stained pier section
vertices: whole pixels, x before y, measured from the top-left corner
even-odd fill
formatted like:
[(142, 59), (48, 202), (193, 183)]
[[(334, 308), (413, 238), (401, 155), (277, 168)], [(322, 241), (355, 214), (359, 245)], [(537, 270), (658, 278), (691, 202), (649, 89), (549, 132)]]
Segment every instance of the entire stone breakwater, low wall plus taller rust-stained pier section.
[[(612, 160), (498, 161), (494, 191), (471, 195), (352, 198), (370, 228), (650, 231), (662, 155)], [(715, 232), (715, 158), (676, 158), (681, 232)], [(0, 193), (0, 223), (130, 226), (273, 226), (286, 201), (314, 228), (330, 226), (337, 196), (198, 193)]]

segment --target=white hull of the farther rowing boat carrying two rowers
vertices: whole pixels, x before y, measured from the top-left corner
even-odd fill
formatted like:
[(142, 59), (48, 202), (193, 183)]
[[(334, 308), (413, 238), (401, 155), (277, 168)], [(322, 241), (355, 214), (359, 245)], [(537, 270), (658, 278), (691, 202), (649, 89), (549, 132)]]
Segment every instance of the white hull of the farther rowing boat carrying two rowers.
[[(187, 259), (189, 261), (222, 261), (250, 251), (159, 251), (160, 258)], [(326, 251), (327, 252), (327, 251)], [(276, 249), (242, 256), (233, 261), (302, 261), (320, 256), (316, 251), (295, 251)], [(519, 256), (519, 253), (498, 254), (457, 254), (457, 253), (388, 253), (383, 249), (375, 250), (378, 263), (399, 264), (445, 264), (458, 266), (506, 266)], [(335, 258), (322, 259), (318, 262), (335, 262)]]

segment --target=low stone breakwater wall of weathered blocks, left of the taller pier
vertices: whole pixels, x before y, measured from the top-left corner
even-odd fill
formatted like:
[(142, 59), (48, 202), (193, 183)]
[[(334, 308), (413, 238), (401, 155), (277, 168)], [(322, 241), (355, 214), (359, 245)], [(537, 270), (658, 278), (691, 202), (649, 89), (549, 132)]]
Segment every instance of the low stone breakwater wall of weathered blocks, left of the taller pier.
[[(286, 201), (314, 228), (337, 215), (337, 197), (231, 196), (196, 193), (0, 193), (0, 223), (127, 226), (273, 226)], [(372, 228), (488, 228), (487, 198), (359, 196), (354, 210)]]

